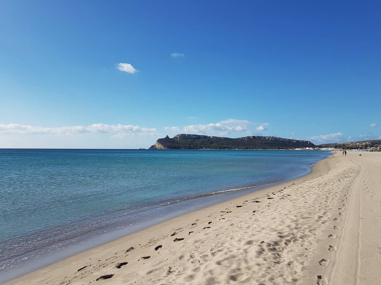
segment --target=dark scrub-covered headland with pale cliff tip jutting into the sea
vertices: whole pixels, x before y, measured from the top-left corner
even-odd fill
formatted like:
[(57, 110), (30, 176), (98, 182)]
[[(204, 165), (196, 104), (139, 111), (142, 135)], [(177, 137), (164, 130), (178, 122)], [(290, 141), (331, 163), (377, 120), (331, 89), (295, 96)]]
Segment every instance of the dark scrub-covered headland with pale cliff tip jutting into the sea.
[(310, 141), (278, 138), (276, 136), (245, 136), (243, 138), (224, 138), (180, 134), (173, 138), (166, 136), (158, 139), (149, 149), (293, 149), (316, 147)]

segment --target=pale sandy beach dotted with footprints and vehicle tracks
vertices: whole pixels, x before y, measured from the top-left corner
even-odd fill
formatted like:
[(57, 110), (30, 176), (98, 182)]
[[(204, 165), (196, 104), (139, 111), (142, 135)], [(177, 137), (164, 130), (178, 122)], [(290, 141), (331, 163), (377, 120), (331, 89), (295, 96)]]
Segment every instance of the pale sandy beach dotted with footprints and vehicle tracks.
[(380, 152), (335, 154), (5, 284), (379, 284), (380, 190)]

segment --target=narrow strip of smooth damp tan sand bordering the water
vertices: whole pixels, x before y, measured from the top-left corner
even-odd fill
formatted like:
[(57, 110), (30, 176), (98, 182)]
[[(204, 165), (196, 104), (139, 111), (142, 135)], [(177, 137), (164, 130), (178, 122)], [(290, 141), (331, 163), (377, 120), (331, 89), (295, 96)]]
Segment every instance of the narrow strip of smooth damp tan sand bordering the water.
[[(261, 186), (265, 186), (265, 188), (255, 190), (254, 192), (250, 192), (247, 194), (241, 193), (241, 195), (240, 195), (240, 193), (237, 193), (237, 192), (226, 192), (227, 194), (235, 194), (238, 196), (234, 197), (234, 198), (229, 197), (228, 199), (224, 199), (222, 202), (219, 200), (213, 201), (207, 205), (201, 206), (201, 208), (199, 207), (199, 209), (192, 210), (190, 212), (186, 211), (185, 213), (182, 213), (180, 215), (174, 214), (175, 217), (173, 217), (173, 218), (169, 218), (169, 219), (168, 219), (168, 217), (164, 218), (164, 221), (162, 221), (162, 222), (159, 222), (159, 223), (154, 222), (154, 225), (151, 225), (147, 228), (140, 228), (138, 231), (134, 231), (133, 233), (127, 234), (127, 235), (125, 235), (123, 237), (119, 237), (117, 239), (113, 239), (111, 241), (103, 243), (102, 245), (99, 245), (96, 247), (91, 247), (90, 249), (86, 249), (83, 252), (75, 253), (74, 255), (70, 255), (63, 260), (61, 259), (60, 261), (55, 261), (54, 264), (50, 263), (50, 265), (48, 265), (48, 266), (45, 266), (43, 268), (38, 268), (38, 269), (36, 269), (32, 272), (28, 272), (22, 276), (12, 278), (12, 279), (7, 279), (6, 281), (1, 281), (2, 282), (1, 284), (10, 284), (10, 282), (19, 282), (19, 280), (20, 280), (20, 282), (22, 282), (22, 280), (24, 278), (27, 278), (29, 280), (29, 275), (36, 275), (36, 274), (38, 275), (40, 273), (43, 273), (45, 270), (50, 271), (52, 269), (54, 270), (57, 268), (62, 268), (62, 266), (66, 267), (67, 264), (72, 264), (73, 260), (82, 259), (83, 257), (85, 257), (87, 255), (91, 255), (91, 254), (93, 254), (93, 252), (98, 252), (99, 250), (102, 251), (104, 249), (109, 249), (111, 247), (115, 247), (118, 244), (124, 243), (126, 240), (136, 239), (137, 236), (140, 236), (143, 232), (156, 232), (159, 228), (167, 227), (171, 223), (176, 223), (176, 222), (179, 222), (179, 220), (187, 219), (190, 216), (199, 215), (200, 213), (203, 213), (205, 211), (213, 210), (212, 209), (213, 207), (226, 207), (226, 206), (228, 206), (228, 204), (236, 203), (236, 200), (245, 198), (247, 196), (267, 195), (269, 192), (273, 191), (274, 188), (283, 187), (283, 185), (290, 184), (290, 182), (293, 182), (295, 184), (295, 183), (298, 183), (299, 180), (307, 179), (309, 176), (313, 176), (313, 175), (316, 175), (317, 173), (322, 172), (323, 171), (322, 169), (324, 168), (324, 166), (322, 166), (322, 165), (324, 165), (325, 161), (329, 160), (330, 157), (333, 157), (333, 155), (328, 155), (326, 158), (323, 158), (322, 160), (314, 163), (314, 165), (312, 166), (311, 172), (309, 174), (304, 175), (304, 176), (298, 177), (296, 179), (286, 180), (286, 181), (279, 182), (279, 183), (269, 183), (269, 185), (271, 185), (269, 187), (267, 186), (268, 184), (261, 185)], [(253, 188), (255, 188), (255, 187), (253, 187)], [(221, 195), (221, 194), (217, 194), (217, 195)], [(233, 196), (235, 196), (235, 195), (233, 195)], [(169, 216), (171, 216), (171, 215), (169, 215)], [(172, 216), (173, 216), (173, 214), (172, 214)], [(153, 221), (150, 221), (150, 222), (153, 222)], [(66, 269), (64, 269), (64, 271), (65, 270)], [(32, 278), (36, 278), (36, 277), (32, 277)], [(5, 283), (3, 283), (3, 282), (5, 282)], [(20, 284), (22, 284), (22, 283), (20, 283)]]

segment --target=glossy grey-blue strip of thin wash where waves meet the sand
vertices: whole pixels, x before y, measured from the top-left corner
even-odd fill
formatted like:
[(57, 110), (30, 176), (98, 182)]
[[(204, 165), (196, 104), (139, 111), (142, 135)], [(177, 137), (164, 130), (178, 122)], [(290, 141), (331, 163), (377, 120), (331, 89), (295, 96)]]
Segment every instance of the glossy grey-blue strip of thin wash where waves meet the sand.
[[(327, 156), (330, 156), (330, 154), (327, 153)], [(325, 158), (323, 158), (323, 160), (324, 159)], [(263, 188), (274, 187), (275, 185), (279, 185), (280, 183), (285, 183), (285, 182), (294, 180), (295, 176), (298, 176), (298, 175), (302, 175), (300, 177), (304, 177), (308, 175), (309, 173), (311, 173), (312, 167), (317, 162), (311, 163), (308, 167), (308, 170), (306, 168), (305, 171), (297, 175), (294, 175), (294, 177), (290, 176), (290, 178), (283, 179), (282, 181), (272, 181), (272, 182), (266, 182), (266, 183), (261, 183), (257, 185), (244, 185), (244, 186), (220, 190), (217, 192), (203, 194), (197, 197), (190, 196), (180, 202), (171, 203), (162, 207), (158, 207), (156, 209), (154, 208), (154, 209), (148, 210), (147, 218), (149, 216), (152, 216), (155, 213), (158, 214), (155, 217), (152, 216), (148, 220), (147, 219), (140, 220), (136, 223), (131, 223), (128, 226), (125, 226), (122, 228), (115, 228), (111, 230), (108, 230), (107, 228), (105, 228), (104, 231), (100, 229), (100, 231), (98, 231), (96, 235), (86, 234), (86, 236), (81, 238), (79, 242), (75, 242), (70, 245), (64, 245), (64, 247), (62, 247), (62, 244), (61, 244), (61, 247), (59, 251), (57, 252), (50, 251), (49, 250), (50, 247), (49, 247), (48, 248), (49, 251), (44, 250), (42, 254), (38, 254), (38, 256), (40, 256), (38, 260), (35, 260), (34, 262), (27, 261), (25, 263), (22, 263), (21, 261), (21, 263), (16, 264), (17, 266), (16, 269), (10, 270), (8, 272), (5, 271), (3, 272), (3, 274), (0, 274), (0, 277), (2, 277), (0, 278), (0, 283), (17, 279), (26, 274), (45, 268), (46, 266), (50, 266), (51, 264), (65, 260), (66, 258), (70, 258), (70, 256), (75, 256), (82, 252), (86, 252), (87, 250), (91, 250), (96, 247), (102, 246), (106, 243), (117, 241), (120, 238), (126, 237), (138, 231), (144, 230), (146, 228), (149, 228), (150, 226), (154, 226), (154, 225), (163, 223), (167, 220), (171, 220), (172, 218), (180, 217), (184, 214), (189, 214), (191, 212), (210, 207), (211, 205), (214, 205), (216, 203), (222, 203), (222, 202), (229, 201), (231, 199), (234, 199), (240, 196), (258, 192)], [(168, 207), (170, 207), (170, 209), (168, 209)], [(164, 208), (165, 208), (165, 211), (163, 210)], [(168, 214), (168, 211), (169, 211), (169, 214)], [(63, 244), (66, 244), (66, 242), (64, 242)], [(35, 264), (38, 264), (38, 265), (35, 265)]]

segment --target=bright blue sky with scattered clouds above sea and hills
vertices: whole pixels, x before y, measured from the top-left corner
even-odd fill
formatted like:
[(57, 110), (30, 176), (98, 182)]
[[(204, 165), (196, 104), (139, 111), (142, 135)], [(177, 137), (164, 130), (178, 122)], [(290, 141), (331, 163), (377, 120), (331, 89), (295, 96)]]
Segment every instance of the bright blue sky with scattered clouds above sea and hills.
[(179, 133), (381, 139), (379, 1), (18, 1), (0, 9), (0, 148)]

